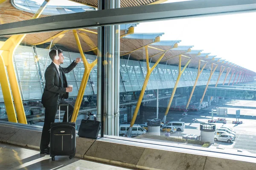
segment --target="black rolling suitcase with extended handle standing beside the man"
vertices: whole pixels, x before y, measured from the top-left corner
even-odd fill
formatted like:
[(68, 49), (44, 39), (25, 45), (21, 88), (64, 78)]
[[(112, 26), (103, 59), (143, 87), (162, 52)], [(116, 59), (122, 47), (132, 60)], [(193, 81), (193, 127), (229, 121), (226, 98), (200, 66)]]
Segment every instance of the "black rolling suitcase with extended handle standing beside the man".
[[(67, 122), (60, 122), (61, 106), (67, 106)], [(68, 122), (68, 105), (59, 105), (59, 122), (51, 123), (50, 156), (69, 156), (72, 159), (76, 153), (76, 124)]]

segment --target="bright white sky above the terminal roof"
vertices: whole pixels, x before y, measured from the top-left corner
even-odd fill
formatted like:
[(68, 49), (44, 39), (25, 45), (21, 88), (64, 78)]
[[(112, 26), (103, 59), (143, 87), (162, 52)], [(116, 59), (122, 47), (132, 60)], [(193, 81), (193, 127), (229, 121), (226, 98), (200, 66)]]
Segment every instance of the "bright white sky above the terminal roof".
[[(42, 3), (44, 0), (35, 0)], [(168, 0), (166, 3), (184, 0)], [(51, 0), (49, 5), (81, 5), (68, 0)], [(255, 13), (232, 14), (140, 23), (136, 33), (165, 33), (160, 40), (181, 40), (179, 45), (194, 45), (192, 50), (204, 50), (256, 72), (254, 41), (256, 40)]]

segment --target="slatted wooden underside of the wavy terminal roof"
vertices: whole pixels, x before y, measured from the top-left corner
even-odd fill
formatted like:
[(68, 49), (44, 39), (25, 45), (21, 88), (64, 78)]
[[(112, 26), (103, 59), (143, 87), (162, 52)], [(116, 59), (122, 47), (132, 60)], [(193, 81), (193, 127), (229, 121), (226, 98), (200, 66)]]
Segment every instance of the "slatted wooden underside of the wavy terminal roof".
[[(70, 0), (73, 2), (78, 2), (85, 4), (87, 6), (98, 6), (98, 0)], [(120, 6), (123, 7), (129, 7), (129, 6), (142, 6), (142, 5), (148, 5), (148, 4), (154, 4), (154, 3), (162, 3), (166, 0), (121, 0)], [(17, 8), (13, 7), (10, 3), (10, 0), (6, 0), (3, 3), (0, 4), (0, 24), (6, 24), (6, 23), (13, 23), (23, 20), (30, 20), (34, 14), (26, 12), (26, 11), (20, 11)], [(40, 17), (47, 17), (48, 15), (42, 14)], [(92, 33), (92, 32), (94, 33)], [(120, 55), (125, 54), (131, 54), (132, 59), (140, 60), (145, 59), (145, 45), (150, 45), (154, 48), (148, 48), (148, 56), (151, 58), (151, 62), (156, 62), (157, 59), (163, 54), (163, 50), (167, 50), (169, 48), (172, 48), (170, 45), (154, 45), (154, 39), (129, 39), (126, 37), (122, 37), (125, 34), (127, 34), (128, 30), (121, 30), (120, 31)], [(63, 33), (63, 34), (62, 34)], [(97, 47), (97, 28), (86, 28), (83, 30), (77, 30), (79, 40), (81, 42), (81, 46), (83, 51), (93, 51)], [(56, 36), (57, 35), (57, 36)], [(52, 38), (53, 37), (53, 38)], [(8, 37), (7, 37), (8, 38)], [(53, 44), (62, 45), (72, 51), (79, 51), (75, 37), (73, 35), (73, 31), (52, 31), (52, 32), (44, 32), (44, 33), (36, 33), (36, 34), (27, 34), (26, 37), (23, 40), (23, 43), (26, 45), (36, 45), (46, 42), (51, 42)], [(158, 49), (157, 49), (158, 48)], [(178, 65), (179, 62), (179, 55), (183, 54), (185, 56), (188, 56), (186, 52), (188, 52), (188, 49), (183, 50), (175, 50), (171, 49), (169, 50), (163, 59), (161, 60), (162, 63), (166, 63), (169, 65)], [(132, 51), (132, 52), (131, 52)], [(198, 60), (204, 60), (207, 61), (207, 65), (211, 65), (211, 63), (218, 64), (217, 71), (220, 71), (221, 65), (225, 67), (231, 67), (234, 66), (230, 62), (218, 62), (217, 60), (207, 59), (205, 57), (197, 56), (196, 54), (191, 55), (189, 57), (192, 57), (192, 60), (190, 62), (190, 67), (197, 67)], [(188, 61), (187, 57), (182, 56), (182, 62), (181, 65), (185, 65)], [(201, 62), (201, 67), (203, 67), (204, 62)], [(244, 69), (244, 68), (241, 68)], [(225, 69), (224, 72), (226, 72), (227, 69)]]

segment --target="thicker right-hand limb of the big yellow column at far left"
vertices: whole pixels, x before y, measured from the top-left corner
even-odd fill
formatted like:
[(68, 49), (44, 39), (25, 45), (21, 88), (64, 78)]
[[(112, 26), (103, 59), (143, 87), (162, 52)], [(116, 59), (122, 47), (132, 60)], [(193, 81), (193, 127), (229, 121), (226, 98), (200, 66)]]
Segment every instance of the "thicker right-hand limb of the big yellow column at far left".
[[(35, 15), (32, 17), (32, 19), (38, 18), (41, 13), (44, 11), (44, 8), (47, 6), (50, 0), (45, 0), (44, 3), (41, 5), (41, 7), (38, 9), (38, 11), (35, 13)], [(13, 65), (13, 57), (14, 52), (17, 48), (17, 46), (20, 44), (20, 42), (24, 39), (24, 35), (14, 35), (10, 37), (8, 40), (4, 42), (2, 47), (0, 48), (0, 55), (3, 57), (4, 64), (7, 68), (8, 76), (10, 85), (12, 88), (12, 96), (15, 102), (15, 109), (18, 116), (19, 123), (27, 124), (26, 122), (26, 115), (23, 108), (22, 99), (20, 96), (20, 89), (17, 83), (17, 77), (15, 74), (15, 68)], [(9, 93), (9, 92), (8, 92)], [(10, 109), (11, 110), (11, 109)], [(10, 119), (15, 120), (16, 117), (13, 117), (14, 114), (10, 115)]]

